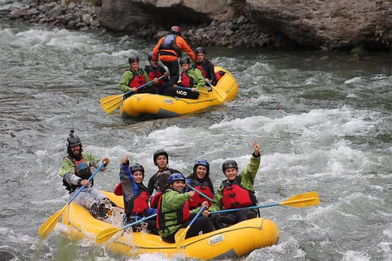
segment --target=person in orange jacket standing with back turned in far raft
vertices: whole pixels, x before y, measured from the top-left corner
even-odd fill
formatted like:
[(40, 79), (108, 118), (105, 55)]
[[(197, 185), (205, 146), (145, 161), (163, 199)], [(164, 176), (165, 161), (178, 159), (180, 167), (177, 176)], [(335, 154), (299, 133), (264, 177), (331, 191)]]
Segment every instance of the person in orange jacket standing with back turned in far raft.
[(153, 59), (160, 59), (169, 70), (169, 84), (172, 87), (177, 84), (179, 73), (178, 58), (181, 57), (181, 50), (186, 52), (189, 57), (196, 62), (196, 56), (189, 47), (184, 38), (181, 37), (181, 29), (179, 26), (173, 26), (170, 33), (159, 39), (157, 45), (152, 51)]

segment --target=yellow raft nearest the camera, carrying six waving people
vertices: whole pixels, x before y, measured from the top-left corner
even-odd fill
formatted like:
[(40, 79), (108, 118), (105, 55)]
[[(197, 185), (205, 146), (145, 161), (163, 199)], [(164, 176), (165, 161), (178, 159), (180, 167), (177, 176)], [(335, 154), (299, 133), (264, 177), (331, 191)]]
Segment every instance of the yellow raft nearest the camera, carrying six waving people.
[[(112, 192), (102, 191), (118, 206), (123, 200)], [(113, 228), (109, 223), (93, 218), (90, 213), (76, 203), (69, 204), (62, 223), (69, 229), (61, 230), (70, 238), (89, 238), (95, 241), (97, 234)], [(274, 222), (265, 218), (254, 218), (214, 232), (190, 237), (177, 248), (174, 243), (162, 241), (158, 235), (146, 232), (118, 232), (109, 241), (106, 249), (121, 255), (137, 256), (144, 253), (159, 253), (167, 256), (182, 255), (201, 260), (233, 258), (245, 255), (255, 249), (272, 246), (279, 238), (279, 230)]]

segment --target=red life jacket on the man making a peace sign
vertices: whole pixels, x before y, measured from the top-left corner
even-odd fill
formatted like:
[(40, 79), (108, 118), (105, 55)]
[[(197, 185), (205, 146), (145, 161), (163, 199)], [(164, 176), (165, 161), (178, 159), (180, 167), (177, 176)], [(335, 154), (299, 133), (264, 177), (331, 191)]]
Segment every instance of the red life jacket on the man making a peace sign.
[(230, 183), (223, 182), (222, 203), (224, 209), (253, 206), (257, 204), (254, 192), (241, 186), (241, 175)]

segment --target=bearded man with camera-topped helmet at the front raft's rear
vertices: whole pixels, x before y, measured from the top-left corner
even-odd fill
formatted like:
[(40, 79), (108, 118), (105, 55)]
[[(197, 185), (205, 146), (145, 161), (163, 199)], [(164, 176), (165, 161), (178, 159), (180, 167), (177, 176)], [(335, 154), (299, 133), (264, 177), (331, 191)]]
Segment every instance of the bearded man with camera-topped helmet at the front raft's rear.
[[(88, 181), (91, 176), (91, 167), (98, 168), (101, 159), (92, 154), (83, 153), (82, 142), (80, 138), (74, 135), (71, 130), (67, 138), (67, 153), (62, 161), (62, 166), (59, 171), (63, 178), (63, 185), (69, 191), (72, 197), (76, 190), (81, 186), (85, 186), (84, 190), (76, 196), (74, 202), (84, 206), (93, 217), (104, 220), (108, 218), (112, 211), (111, 206), (115, 206), (109, 199), (105, 197), (99, 190), (93, 188), (94, 179)], [(109, 164), (109, 157), (102, 159), (104, 167), (101, 171), (106, 169)]]

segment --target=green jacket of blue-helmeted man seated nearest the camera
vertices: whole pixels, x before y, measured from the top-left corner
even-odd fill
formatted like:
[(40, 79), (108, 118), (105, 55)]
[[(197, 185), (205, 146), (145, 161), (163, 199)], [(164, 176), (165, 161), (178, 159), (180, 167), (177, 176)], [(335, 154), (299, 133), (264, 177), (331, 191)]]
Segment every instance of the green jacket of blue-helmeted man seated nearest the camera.
[[(168, 189), (167, 192), (163, 195), (162, 198), (162, 212), (166, 211), (171, 211), (171, 210), (176, 210), (180, 205), (183, 205), (185, 201), (187, 201), (190, 198), (189, 193), (178, 193), (177, 191), (174, 191), (172, 189)], [(197, 213), (200, 210), (200, 207), (191, 210), (190, 212)], [(168, 213), (166, 214), (167, 219), (173, 219), (177, 217), (176, 212)], [(169, 221), (166, 222), (165, 225), (171, 225), (175, 224), (176, 221)], [(168, 227), (168, 229), (165, 229), (164, 231), (158, 231), (159, 235), (162, 237), (168, 236), (172, 234), (173, 232), (176, 232), (181, 225), (177, 226), (171, 226)]]

